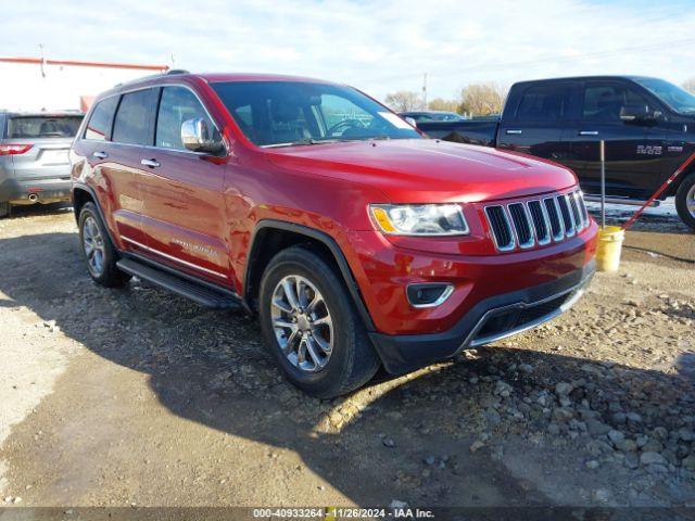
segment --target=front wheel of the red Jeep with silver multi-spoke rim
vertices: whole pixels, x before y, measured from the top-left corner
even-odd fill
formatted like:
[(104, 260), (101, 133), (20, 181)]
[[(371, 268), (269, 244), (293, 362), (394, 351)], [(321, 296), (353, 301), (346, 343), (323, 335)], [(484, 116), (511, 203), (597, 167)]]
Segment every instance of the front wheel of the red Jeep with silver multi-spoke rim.
[(261, 281), (261, 329), (285, 376), (331, 398), (367, 383), (379, 358), (341, 278), (303, 246), (278, 253)]

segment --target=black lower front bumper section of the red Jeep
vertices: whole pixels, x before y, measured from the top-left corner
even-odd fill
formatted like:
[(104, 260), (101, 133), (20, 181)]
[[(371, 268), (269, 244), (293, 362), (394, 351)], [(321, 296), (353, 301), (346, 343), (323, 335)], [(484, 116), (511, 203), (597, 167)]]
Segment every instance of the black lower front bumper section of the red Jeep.
[(495, 342), (552, 320), (579, 300), (594, 272), (595, 262), (591, 260), (551, 282), (491, 296), (441, 333), (369, 335), (387, 371), (408, 372), (451, 358), (466, 347)]

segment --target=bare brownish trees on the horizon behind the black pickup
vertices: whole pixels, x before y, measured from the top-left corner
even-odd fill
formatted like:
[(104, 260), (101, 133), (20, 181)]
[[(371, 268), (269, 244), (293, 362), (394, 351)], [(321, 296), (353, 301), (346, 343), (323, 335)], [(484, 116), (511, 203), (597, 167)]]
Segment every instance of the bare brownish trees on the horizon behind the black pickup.
[[(695, 93), (695, 78), (685, 81), (682, 87)], [(435, 98), (424, 106), (422, 97), (418, 92), (399, 90), (387, 94), (384, 102), (395, 112), (409, 111), (446, 111), (457, 112), (471, 117), (489, 116), (502, 113), (509, 88), (495, 82), (470, 84), (462, 88), (454, 98), (445, 100)]]

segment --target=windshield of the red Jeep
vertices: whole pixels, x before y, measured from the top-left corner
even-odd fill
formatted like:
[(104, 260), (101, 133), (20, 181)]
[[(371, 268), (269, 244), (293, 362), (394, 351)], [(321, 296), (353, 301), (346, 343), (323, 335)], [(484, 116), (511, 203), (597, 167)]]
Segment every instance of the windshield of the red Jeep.
[(400, 116), (350, 87), (306, 81), (220, 81), (212, 87), (258, 147), (421, 138)]

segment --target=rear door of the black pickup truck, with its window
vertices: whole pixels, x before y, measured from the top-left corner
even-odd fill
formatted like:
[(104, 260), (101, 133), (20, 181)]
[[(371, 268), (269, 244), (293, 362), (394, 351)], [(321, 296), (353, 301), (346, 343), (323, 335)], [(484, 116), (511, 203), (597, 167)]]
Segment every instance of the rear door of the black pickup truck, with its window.
[(563, 162), (569, 153), (564, 139), (572, 84), (521, 84), (500, 123), (497, 148)]

